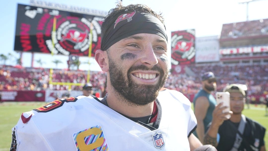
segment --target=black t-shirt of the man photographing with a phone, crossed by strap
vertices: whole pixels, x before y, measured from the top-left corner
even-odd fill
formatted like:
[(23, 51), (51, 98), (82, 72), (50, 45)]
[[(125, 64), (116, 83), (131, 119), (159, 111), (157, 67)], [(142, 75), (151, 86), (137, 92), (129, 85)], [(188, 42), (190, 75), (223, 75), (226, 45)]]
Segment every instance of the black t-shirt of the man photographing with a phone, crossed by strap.
[[(253, 150), (251, 146), (260, 149), (264, 145), (265, 128), (259, 123), (246, 118), (245, 130), (243, 133), (243, 141), (239, 150), (246, 149), (247, 151)], [(236, 133), (238, 131), (239, 123), (233, 123), (230, 120), (224, 121), (219, 127), (220, 140), (217, 146), (218, 151), (228, 151), (233, 148)]]

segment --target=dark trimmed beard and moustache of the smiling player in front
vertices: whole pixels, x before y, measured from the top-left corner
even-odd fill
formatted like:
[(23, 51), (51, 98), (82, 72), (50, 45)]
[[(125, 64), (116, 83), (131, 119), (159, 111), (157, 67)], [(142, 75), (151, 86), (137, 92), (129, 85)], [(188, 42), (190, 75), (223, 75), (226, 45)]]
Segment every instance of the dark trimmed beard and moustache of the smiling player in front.
[[(155, 70), (159, 71), (159, 82), (156, 85), (137, 84), (131, 79), (131, 72), (135, 70)], [(132, 66), (127, 72), (127, 79), (125, 78), (125, 71), (118, 66), (114, 60), (109, 58), (109, 73), (110, 82), (114, 90), (125, 98), (128, 103), (135, 105), (145, 105), (153, 102), (159, 93), (159, 90), (164, 86), (168, 78), (168, 69), (164, 75), (164, 71), (159, 66), (155, 65), (153, 68), (148, 68), (145, 65)], [(109, 95), (109, 94), (108, 94)]]

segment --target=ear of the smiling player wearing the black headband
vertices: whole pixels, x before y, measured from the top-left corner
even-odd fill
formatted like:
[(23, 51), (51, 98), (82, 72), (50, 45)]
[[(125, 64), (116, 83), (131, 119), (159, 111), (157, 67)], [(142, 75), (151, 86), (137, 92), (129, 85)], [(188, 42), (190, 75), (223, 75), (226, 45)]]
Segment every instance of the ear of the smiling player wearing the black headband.
[(109, 71), (109, 65), (108, 65), (108, 56), (106, 51), (97, 50), (95, 52), (95, 60), (101, 67), (102, 71), (107, 72)]

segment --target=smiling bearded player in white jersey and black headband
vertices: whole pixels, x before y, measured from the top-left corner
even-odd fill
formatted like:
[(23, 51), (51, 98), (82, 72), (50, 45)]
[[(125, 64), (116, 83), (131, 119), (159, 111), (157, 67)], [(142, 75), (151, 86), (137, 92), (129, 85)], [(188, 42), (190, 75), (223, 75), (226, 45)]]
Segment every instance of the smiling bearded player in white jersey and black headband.
[(163, 18), (145, 5), (118, 4), (101, 30), (95, 60), (107, 73), (106, 96), (58, 99), (23, 113), (13, 128), (13, 150), (213, 149), (192, 134), (190, 101), (160, 91), (169, 72)]

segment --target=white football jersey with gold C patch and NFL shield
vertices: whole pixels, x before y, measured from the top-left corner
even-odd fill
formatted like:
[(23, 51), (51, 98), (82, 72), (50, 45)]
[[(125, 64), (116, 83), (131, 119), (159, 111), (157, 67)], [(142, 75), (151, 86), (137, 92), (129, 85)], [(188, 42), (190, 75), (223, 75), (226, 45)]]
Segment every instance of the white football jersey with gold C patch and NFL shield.
[(17, 151), (190, 150), (188, 135), (197, 123), (190, 101), (174, 90), (160, 91), (157, 101), (159, 127), (151, 130), (92, 96), (58, 99), (22, 114), (12, 129), (12, 147)]

